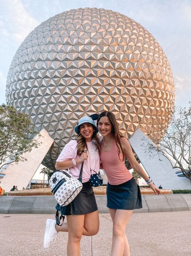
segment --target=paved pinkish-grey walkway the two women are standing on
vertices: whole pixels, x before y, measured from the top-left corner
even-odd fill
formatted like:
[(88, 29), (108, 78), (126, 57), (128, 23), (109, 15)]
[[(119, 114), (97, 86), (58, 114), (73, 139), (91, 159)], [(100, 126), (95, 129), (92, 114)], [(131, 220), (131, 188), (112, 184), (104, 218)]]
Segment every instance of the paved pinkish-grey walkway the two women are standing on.
[[(46, 218), (54, 215), (0, 214), (0, 256), (66, 256), (67, 233), (42, 248)], [(93, 256), (109, 256), (111, 233), (109, 214), (100, 214)], [(133, 213), (126, 234), (131, 256), (191, 256), (191, 211)], [(81, 251), (91, 256), (91, 237), (82, 237)]]

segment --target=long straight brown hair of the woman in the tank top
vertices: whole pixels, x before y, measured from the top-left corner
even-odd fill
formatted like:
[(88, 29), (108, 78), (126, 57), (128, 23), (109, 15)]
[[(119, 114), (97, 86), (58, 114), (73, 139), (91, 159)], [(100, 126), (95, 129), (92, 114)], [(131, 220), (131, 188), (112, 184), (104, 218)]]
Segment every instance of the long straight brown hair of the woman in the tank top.
[(125, 152), (124, 152), (124, 150), (122, 148), (122, 144), (121, 144), (121, 138), (123, 138), (124, 136), (122, 136), (120, 134), (116, 118), (115, 118), (115, 116), (114, 116), (114, 114), (112, 112), (104, 111), (101, 114), (99, 114), (99, 116), (98, 116), (97, 126), (98, 126), (100, 118), (103, 117), (103, 116), (107, 116), (109, 118), (109, 120), (110, 120), (110, 123), (111, 123), (111, 133), (113, 134), (113, 137), (115, 138), (115, 143), (116, 143), (116, 145), (118, 147), (119, 158), (120, 158), (120, 150), (121, 150), (122, 151), (122, 155), (123, 155), (123, 161), (124, 161), (125, 160)]

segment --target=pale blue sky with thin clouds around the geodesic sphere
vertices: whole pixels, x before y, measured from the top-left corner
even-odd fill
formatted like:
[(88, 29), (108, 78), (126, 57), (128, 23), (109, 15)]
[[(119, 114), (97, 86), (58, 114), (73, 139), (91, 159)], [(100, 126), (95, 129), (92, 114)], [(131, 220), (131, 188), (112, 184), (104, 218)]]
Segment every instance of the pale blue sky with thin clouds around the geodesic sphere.
[(0, 104), (10, 62), (25, 37), (49, 17), (79, 7), (122, 13), (139, 22), (164, 49), (174, 75), (176, 105), (191, 100), (191, 0), (0, 0)]

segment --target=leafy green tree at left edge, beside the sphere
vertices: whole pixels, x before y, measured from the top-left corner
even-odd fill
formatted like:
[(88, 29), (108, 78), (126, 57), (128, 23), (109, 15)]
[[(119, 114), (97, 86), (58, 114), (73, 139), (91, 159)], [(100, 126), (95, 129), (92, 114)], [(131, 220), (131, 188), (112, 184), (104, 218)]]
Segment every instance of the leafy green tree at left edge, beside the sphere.
[(26, 161), (23, 153), (41, 144), (38, 141), (40, 135), (33, 140), (37, 134), (27, 114), (18, 112), (13, 106), (0, 105), (0, 169), (6, 161)]

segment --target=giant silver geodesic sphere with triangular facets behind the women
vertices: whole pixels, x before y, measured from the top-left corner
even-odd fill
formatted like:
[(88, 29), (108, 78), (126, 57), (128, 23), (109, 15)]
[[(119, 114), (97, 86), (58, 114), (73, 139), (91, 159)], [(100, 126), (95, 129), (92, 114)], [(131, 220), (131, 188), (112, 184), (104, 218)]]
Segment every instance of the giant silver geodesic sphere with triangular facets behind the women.
[(10, 65), (6, 101), (54, 138), (43, 162), (52, 169), (80, 117), (112, 111), (130, 136), (152, 116), (164, 120), (174, 83), (164, 51), (140, 24), (110, 10), (80, 8), (51, 17), (26, 37)]

